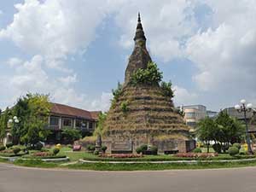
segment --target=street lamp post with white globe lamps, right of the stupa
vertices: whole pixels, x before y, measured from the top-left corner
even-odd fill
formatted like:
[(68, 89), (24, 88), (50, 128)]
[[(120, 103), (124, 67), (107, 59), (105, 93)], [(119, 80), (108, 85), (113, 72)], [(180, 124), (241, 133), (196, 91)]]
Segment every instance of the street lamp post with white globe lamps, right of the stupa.
[(247, 122), (247, 112), (250, 112), (252, 110), (253, 104), (252, 103), (247, 103), (246, 100), (242, 99), (241, 104), (236, 105), (235, 108), (236, 108), (238, 113), (243, 113), (244, 121), (245, 121), (245, 124), (246, 124), (247, 148), (248, 148), (248, 152), (250, 154), (253, 154), (253, 149), (251, 147), (251, 141), (250, 141), (250, 134), (249, 134), (249, 131), (248, 131), (248, 122)]

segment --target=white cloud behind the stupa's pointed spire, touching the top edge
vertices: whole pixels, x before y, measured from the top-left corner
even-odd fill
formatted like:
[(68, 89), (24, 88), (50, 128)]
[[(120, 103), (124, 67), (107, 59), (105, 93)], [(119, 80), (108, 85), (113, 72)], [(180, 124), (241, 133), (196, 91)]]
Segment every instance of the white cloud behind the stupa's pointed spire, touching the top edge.
[(120, 44), (131, 48), (137, 11), (140, 10), (151, 53), (162, 61), (182, 56), (183, 38), (193, 34), (196, 28), (193, 15), (195, 4), (186, 0), (123, 1), (116, 15), (117, 25), (123, 30)]

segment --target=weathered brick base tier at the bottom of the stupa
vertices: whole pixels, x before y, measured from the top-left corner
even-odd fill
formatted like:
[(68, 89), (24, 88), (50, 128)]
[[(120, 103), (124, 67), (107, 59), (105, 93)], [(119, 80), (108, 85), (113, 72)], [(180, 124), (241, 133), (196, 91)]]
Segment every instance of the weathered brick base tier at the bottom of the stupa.
[[(189, 139), (182, 134), (172, 132), (170, 135), (148, 135), (154, 131), (114, 131), (113, 135), (103, 139), (103, 144), (108, 147), (107, 152), (112, 154), (136, 153), (136, 148), (143, 144), (156, 146), (160, 154), (164, 153), (187, 153), (195, 148), (195, 140)], [(158, 131), (159, 132), (159, 131)]]

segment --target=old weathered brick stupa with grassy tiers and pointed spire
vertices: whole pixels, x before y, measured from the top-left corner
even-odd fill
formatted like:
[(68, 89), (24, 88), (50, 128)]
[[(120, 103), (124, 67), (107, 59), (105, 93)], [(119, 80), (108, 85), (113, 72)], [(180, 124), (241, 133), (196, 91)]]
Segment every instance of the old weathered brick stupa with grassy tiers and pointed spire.
[(132, 74), (146, 69), (152, 61), (140, 15), (134, 42), (125, 83), (104, 123), (103, 143), (111, 153), (134, 153), (142, 144), (157, 146), (162, 153), (192, 150), (195, 141), (189, 137), (189, 127), (176, 112), (172, 98), (163, 94), (160, 84), (131, 84)]

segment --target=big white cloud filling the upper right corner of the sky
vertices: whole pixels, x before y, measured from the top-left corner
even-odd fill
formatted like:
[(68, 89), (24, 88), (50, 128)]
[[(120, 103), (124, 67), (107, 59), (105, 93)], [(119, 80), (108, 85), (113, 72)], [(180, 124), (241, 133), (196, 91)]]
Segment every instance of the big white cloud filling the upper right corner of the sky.
[[(209, 1), (210, 2), (210, 1)], [(225, 97), (225, 102), (242, 97), (255, 100), (256, 17), (255, 1), (211, 1), (215, 11), (212, 29), (189, 39), (187, 55), (199, 72), (195, 83), (200, 90)], [(224, 6), (226, 5), (226, 6)], [(229, 6), (227, 6), (229, 5)]]

